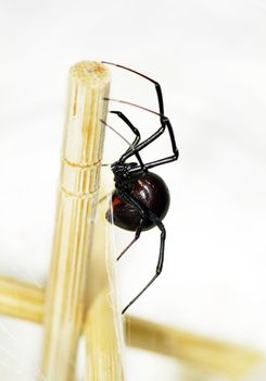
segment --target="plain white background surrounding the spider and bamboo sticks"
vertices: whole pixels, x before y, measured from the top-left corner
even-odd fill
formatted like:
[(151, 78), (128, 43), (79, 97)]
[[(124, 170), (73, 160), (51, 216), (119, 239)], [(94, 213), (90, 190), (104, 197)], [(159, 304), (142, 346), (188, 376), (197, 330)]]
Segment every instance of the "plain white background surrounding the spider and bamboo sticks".
[[(157, 170), (172, 194), (164, 271), (130, 312), (265, 351), (266, 3), (0, 5), (0, 273), (46, 281), (69, 66), (126, 64), (161, 83), (180, 149), (178, 162)], [(117, 69), (111, 94), (156, 108), (153, 87)], [(143, 135), (157, 126), (125, 112)], [(105, 143), (114, 158), (126, 149), (111, 133)], [(168, 148), (162, 139), (148, 156)], [(119, 251), (132, 235), (115, 236)], [(157, 250), (159, 232), (143, 233), (118, 263), (123, 306), (153, 275)], [(14, 365), (23, 380), (35, 379), (40, 336), (35, 325), (0, 319), (1, 380), (17, 380)], [(36, 347), (25, 352), (29, 337)], [(169, 364), (151, 364), (130, 355), (129, 379), (172, 379)]]

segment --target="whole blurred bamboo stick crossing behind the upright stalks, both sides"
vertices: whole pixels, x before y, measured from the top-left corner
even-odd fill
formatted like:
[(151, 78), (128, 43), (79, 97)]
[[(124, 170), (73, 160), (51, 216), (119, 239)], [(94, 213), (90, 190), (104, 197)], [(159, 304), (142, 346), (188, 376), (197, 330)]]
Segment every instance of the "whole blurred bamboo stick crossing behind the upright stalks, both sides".
[[(43, 290), (7, 278), (0, 279), (0, 314), (41, 323), (42, 302)], [(126, 340), (130, 346), (174, 357), (195, 370), (226, 377), (228, 380), (255, 381), (255, 378), (249, 378), (250, 373), (265, 365), (265, 356), (257, 351), (136, 317), (126, 317)]]

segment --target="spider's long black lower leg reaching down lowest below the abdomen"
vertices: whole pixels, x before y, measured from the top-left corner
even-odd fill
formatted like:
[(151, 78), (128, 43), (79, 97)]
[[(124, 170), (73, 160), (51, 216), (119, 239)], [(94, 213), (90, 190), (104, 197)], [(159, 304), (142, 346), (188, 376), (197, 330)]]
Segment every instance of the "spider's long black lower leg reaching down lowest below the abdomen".
[(161, 239), (160, 239), (160, 253), (159, 253), (159, 260), (156, 266), (156, 272), (155, 275), (150, 280), (150, 282), (141, 290), (141, 292), (132, 298), (132, 300), (123, 309), (122, 314), (125, 314), (126, 310), (144, 293), (144, 291), (150, 287), (150, 285), (155, 281), (155, 279), (161, 274), (163, 270), (163, 263), (164, 263), (164, 245), (165, 245), (165, 237), (166, 237), (166, 231), (164, 228), (164, 224), (162, 221), (151, 211), (148, 211), (148, 216), (150, 220), (152, 220), (157, 228), (161, 230)]

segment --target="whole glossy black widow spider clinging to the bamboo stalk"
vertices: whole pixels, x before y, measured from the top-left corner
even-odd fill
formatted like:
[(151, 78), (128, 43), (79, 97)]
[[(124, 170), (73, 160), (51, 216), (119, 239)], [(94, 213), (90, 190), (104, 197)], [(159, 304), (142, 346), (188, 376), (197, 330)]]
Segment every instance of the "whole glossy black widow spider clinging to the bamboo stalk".
[[(157, 114), (160, 116), (161, 123), (160, 128), (155, 133), (153, 133), (143, 142), (140, 142), (141, 137), (138, 128), (131, 124), (127, 116), (121, 111), (110, 111), (111, 113), (116, 114), (118, 118), (121, 118), (136, 135), (135, 140), (129, 145), (129, 148), (121, 156), (117, 161), (111, 165), (111, 169), (114, 173), (115, 190), (112, 193), (112, 211), (107, 210), (106, 219), (122, 229), (136, 232), (135, 238), (121, 253), (117, 260), (139, 238), (142, 231), (152, 229), (154, 226), (157, 226), (161, 231), (160, 253), (155, 275), (123, 309), (122, 314), (124, 314), (128, 307), (131, 306), (132, 303), (137, 300), (139, 296), (143, 294), (143, 292), (155, 281), (163, 269), (166, 231), (162, 220), (167, 213), (169, 207), (169, 190), (163, 179), (157, 174), (150, 172), (149, 170), (151, 168), (177, 160), (178, 149), (176, 146), (175, 135), (170, 122), (168, 118), (164, 115), (164, 102), (160, 84), (147, 75), (143, 75), (132, 69), (106, 61), (102, 61), (102, 63), (127, 70), (153, 83), (157, 95), (159, 112), (130, 102), (122, 100), (118, 101), (122, 103), (139, 107), (140, 109)], [(104, 100), (112, 101), (115, 99), (104, 98)], [(102, 122), (107, 125), (104, 121)], [(140, 157), (140, 151), (153, 143), (155, 139), (157, 139), (166, 128), (169, 134), (173, 155), (155, 161), (143, 163)], [(138, 163), (126, 162), (127, 159), (131, 158), (132, 156), (136, 157)]]

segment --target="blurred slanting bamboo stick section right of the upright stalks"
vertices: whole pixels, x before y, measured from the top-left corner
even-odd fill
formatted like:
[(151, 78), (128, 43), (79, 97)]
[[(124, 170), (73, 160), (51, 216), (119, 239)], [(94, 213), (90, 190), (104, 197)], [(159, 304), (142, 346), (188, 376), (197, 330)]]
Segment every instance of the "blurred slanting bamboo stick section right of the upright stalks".
[(130, 317), (127, 320), (129, 345), (181, 358), (192, 368), (239, 380), (262, 361), (256, 351), (210, 340), (154, 322)]

